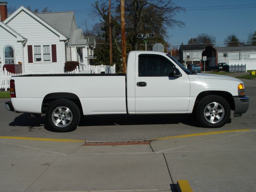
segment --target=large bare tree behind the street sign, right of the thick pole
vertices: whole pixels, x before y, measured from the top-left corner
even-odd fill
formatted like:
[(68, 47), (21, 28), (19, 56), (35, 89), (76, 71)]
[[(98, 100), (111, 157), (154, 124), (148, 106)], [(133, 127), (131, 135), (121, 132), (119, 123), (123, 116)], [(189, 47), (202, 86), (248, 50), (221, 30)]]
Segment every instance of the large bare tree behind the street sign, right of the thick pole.
[(182, 27), (185, 24), (176, 20), (176, 13), (185, 11), (172, 0), (126, 0), (126, 20), (128, 40), (133, 50), (138, 50), (138, 33), (155, 33), (166, 37), (167, 28)]

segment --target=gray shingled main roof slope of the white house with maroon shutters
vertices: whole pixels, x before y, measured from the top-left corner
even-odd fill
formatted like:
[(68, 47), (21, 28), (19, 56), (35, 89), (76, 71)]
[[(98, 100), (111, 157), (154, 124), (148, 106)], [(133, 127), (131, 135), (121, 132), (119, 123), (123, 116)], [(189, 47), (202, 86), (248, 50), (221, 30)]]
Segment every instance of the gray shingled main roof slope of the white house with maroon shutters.
[(65, 37), (69, 37), (70, 27), (74, 12), (48, 12), (48, 13), (36, 13), (44, 22), (52, 26), (55, 30), (60, 32)]

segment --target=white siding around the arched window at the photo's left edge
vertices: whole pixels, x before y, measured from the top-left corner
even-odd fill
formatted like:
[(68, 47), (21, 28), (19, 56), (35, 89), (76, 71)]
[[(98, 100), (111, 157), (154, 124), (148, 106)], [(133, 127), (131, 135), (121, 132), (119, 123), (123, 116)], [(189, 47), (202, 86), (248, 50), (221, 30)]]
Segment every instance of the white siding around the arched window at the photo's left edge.
[(14, 63), (18, 64), (18, 62), (22, 62), (22, 43), (17, 42), (17, 38), (10, 34), (10, 32), (6, 31), (4, 28), (0, 26), (0, 61), (2, 62), (2, 66), (4, 65), (4, 47), (7, 45), (11, 45), (14, 48), (15, 60)]

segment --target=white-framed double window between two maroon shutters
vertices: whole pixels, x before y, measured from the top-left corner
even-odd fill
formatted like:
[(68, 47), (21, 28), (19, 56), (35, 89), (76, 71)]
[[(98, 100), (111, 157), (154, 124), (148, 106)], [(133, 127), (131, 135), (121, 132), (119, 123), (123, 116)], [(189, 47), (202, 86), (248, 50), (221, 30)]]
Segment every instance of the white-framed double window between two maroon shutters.
[[(43, 50), (43, 51), (42, 51)], [(50, 61), (51, 54), (50, 54), (50, 45), (35, 45), (34, 46), (34, 61)]]

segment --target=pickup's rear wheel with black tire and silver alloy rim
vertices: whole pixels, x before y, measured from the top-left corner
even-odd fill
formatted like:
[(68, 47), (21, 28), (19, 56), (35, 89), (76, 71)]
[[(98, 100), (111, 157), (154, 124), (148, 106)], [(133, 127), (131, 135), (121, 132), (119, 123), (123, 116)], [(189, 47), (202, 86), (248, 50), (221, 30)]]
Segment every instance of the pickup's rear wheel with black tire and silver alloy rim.
[(60, 99), (52, 102), (46, 110), (46, 127), (57, 132), (70, 132), (80, 121), (80, 110), (70, 100)]

